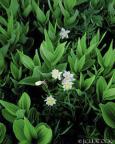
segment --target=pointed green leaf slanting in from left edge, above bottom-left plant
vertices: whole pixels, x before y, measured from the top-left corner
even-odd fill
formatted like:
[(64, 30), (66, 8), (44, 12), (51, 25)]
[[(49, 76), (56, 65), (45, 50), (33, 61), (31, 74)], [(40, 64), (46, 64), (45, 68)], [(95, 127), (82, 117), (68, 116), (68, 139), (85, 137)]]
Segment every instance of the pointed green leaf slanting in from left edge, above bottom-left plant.
[(16, 111), (19, 109), (18, 106), (10, 103), (10, 102), (6, 102), (3, 100), (0, 100), (0, 104), (9, 112), (11, 113), (13, 116), (16, 115)]

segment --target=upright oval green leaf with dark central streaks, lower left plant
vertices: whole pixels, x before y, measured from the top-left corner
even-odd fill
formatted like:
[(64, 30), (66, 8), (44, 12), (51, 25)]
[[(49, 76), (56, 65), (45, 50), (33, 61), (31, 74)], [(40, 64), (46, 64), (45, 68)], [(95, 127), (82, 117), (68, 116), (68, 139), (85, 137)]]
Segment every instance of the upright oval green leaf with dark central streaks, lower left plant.
[(30, 100), (29, 95), (26, 92), (22, 94), (21, 98), (18, 101), (18, 105), (20, 108), (26, 110), (27, 112), (29, 111), (31, 100)]

